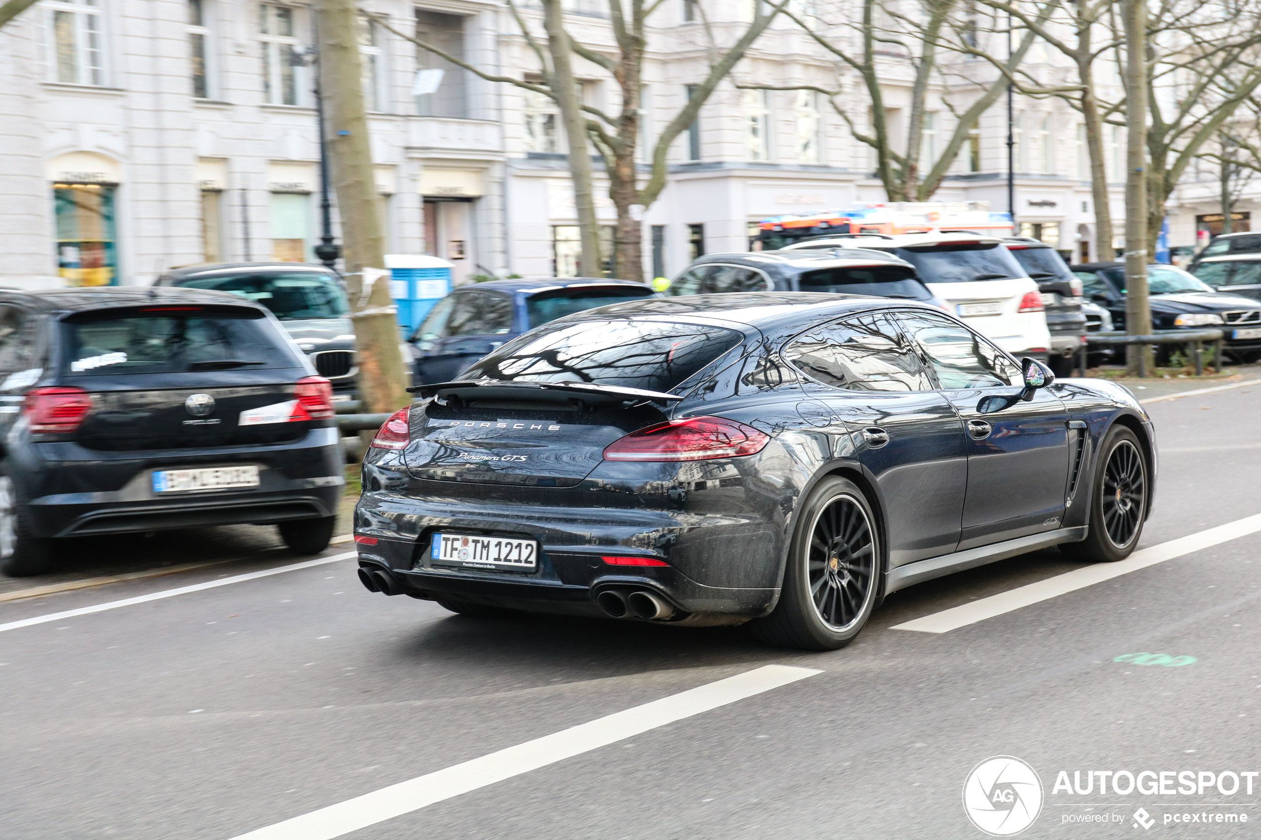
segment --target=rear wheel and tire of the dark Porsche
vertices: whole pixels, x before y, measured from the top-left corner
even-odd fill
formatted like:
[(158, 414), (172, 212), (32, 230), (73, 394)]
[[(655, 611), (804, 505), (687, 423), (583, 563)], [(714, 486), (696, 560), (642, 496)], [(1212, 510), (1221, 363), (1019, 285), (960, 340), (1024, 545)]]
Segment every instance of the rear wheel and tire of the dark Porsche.
[(857, 485), (818, 482), (798, 509), (774, 611), (749, 622), (760, 641), (798, 650), (849, 645), (875, 610), (884, 552), (875, 514)]

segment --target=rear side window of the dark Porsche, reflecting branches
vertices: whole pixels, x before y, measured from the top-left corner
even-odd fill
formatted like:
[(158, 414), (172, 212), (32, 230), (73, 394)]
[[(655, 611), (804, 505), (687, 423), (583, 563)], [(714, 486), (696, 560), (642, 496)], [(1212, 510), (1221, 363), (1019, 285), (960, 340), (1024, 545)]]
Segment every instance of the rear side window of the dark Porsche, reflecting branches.
[(932, 390), (919, 358), (884, 315), (835, 321), (797, 336), (784, 356), (801, 372), (850, 390)]

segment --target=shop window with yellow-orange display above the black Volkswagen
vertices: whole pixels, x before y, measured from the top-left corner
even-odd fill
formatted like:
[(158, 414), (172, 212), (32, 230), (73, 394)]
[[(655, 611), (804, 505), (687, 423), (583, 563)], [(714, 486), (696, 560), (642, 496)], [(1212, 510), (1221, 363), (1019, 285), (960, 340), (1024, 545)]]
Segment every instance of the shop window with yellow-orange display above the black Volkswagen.
[(110, 184), (53, 184), (57, 273), (69, 286), (119, 282), (113, 190)]

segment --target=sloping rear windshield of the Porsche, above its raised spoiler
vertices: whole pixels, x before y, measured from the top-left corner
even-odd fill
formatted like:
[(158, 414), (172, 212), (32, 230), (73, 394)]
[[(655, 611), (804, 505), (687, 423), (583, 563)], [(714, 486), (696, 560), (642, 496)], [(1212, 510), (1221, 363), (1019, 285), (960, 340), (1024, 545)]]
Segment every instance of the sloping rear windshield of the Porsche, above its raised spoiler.
[(556, 324), (509, 341), (460, 378), (590, 382), (670, 392), (741, 338), (735, 330), (661, 321)]

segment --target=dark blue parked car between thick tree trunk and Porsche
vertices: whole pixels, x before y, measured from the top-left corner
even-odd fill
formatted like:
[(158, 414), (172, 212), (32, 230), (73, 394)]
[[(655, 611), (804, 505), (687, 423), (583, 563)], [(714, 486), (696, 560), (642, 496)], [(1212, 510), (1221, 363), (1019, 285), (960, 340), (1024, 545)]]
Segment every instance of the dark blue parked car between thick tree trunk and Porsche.
[(407, 339), (417, 384), (455, 379), (491, 350), (557, 317), (654, 297), (643, 283), (594, 277), (496, 280), (460, 286), (438, 301)]

